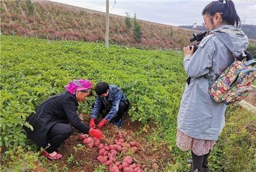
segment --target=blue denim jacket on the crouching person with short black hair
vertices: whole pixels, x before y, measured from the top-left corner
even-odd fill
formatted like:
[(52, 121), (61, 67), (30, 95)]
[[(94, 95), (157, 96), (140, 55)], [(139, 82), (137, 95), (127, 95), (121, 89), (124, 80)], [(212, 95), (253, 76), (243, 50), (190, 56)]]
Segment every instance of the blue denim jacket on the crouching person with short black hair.
[(105, 105), (105, 107), (107, 106), (108, 103), (110, 103), (112, 104), (112, 107), (109, 114), (106, 115), (105, 120), (107, 121), (112, 120), (115, 116), (117, 116), (119, 103), (124, 100), (126, 100), (126, 98), (122, 90), (115, 85), (109, 85), (108, 99), (106, 99), (105, 97), (101, 97), (99, 95), (97, 96), (96, 102), (93, 107), (92, 118), (97, 119), (98, 112), (100, 111), (102, 103)]

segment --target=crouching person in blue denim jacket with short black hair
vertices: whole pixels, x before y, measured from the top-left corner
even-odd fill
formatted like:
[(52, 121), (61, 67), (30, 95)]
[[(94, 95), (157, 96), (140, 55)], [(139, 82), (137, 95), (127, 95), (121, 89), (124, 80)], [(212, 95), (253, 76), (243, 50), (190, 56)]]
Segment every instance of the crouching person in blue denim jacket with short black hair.
[(104, 119), (98, 124), (98, 128), (101, 128), (109, 121), (113, 122), (117, 127), (121, 127), (121, 118), (130, 105), (122, 90), (115, 85), (109, 85), (107, 82), (98, 82), (96, 94), (97, 99), (93, 106), (90, 127), (96, 127), (95, 119), (97, 119), (99, 112), (104, 115)]

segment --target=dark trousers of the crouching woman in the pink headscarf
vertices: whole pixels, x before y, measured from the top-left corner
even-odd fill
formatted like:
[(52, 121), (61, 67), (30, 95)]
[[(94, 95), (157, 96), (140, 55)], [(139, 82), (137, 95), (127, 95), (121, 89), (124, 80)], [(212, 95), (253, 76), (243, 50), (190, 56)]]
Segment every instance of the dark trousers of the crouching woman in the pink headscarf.
[(68, 124), (57, 123), (48, 132), (49, 146), (46, 152), (52, 153), (59, 148), (60, 144), (68, 139), (72, 134), (72, 127)]

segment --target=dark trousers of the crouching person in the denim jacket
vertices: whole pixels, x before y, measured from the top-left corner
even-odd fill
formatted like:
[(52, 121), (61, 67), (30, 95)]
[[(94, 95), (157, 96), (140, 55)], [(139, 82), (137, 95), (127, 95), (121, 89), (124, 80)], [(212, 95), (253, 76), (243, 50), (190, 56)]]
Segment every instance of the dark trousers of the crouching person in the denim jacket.
[[(92, 105), (92, 107), (94, 107), (94, 103)], [(125, 112), (127, 112), (129, 110), (130, 107), (130, 102), (129, 100), (126, 100), (125, 102), (120, 102), (119, 103), (119, 107), (118, 107), (118, 111), (117, 111), (117, 116), (115, 116), (110, 122), (115, 123), (117, 121), (119, 121), (120, 119), (122, 119), (123, 114), (125, 114)], [(100, 113), (103, 115), (102, 118), (105, 118), (106, 115), (109, 114), (111, 109), (107, 109), (104, 105), (104, 103), (101, 103), (101, 108), (100, 108)]]

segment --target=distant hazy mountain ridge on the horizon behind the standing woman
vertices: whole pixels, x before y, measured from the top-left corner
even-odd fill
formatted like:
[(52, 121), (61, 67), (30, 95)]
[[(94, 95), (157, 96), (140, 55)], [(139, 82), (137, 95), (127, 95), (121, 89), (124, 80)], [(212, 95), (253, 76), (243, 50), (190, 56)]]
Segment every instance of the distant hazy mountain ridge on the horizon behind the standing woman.
[[(179, 26), (183, 28), (188, 28), (192, 30), (192, 26)], [(245, 32), (245, 34), (248, 36), (249, 39), (255, 39), (256, 40), (256, 26), (250, 25), (250, 24), (242, 24), (241, 25), (242, 31)], [(195, 29), (197, 31), (205, 31), (204, 26), (197, 26)]]

